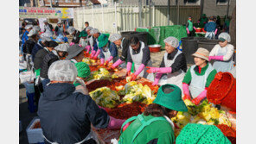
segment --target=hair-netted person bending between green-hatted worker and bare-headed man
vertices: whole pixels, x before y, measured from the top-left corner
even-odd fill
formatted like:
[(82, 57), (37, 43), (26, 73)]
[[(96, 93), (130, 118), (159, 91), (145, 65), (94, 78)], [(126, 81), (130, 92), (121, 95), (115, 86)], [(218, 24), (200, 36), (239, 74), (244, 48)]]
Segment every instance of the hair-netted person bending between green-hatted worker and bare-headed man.
[(117, 47), (121, 48), (122, 54), (119, 56), (120, 59), (118, 59), (114, 64), (112, 64), (112, 69), (118, 67), (125, 68), (125, 60), (127, 59), (127, 50), (129, 49), (129, 40), (125, 39), (125, 37), (122, 38), (120, 34), (112, 34), (109, 37), (109, 41), (114, 43)]

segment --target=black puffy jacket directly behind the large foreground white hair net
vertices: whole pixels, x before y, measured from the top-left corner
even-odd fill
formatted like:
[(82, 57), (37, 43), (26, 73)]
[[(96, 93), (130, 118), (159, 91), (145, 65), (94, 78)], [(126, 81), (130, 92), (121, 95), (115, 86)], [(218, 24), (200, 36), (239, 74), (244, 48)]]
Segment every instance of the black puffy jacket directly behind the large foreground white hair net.
[(53, 52), (48, 53), (43, 59), (41, 64), (40, 77), (48, 78), (48, 69), (54, 63), (54, 61), (59, 60), (59, 57)]

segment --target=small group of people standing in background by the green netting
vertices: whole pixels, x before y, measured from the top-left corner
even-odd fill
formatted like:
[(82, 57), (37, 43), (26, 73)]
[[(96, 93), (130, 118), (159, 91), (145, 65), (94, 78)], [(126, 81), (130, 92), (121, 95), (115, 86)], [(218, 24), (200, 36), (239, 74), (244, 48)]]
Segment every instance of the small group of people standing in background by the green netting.
[[(202, 14), (198, 20), (198, 28), (204, 28), (206, 31), (205, 37), (208, 39), (218, 39), (218, 35), (221, 32), (229, 32), (230, 18), (228, 16), (224, 17), (224, 23), (221, 25), (220, 16), (209, 16)], [(195, 36), (195, 26), (192, 22), (192, 16), (189, 16), (189, 20), (186, 23), (186, 30), (188, 36)]]

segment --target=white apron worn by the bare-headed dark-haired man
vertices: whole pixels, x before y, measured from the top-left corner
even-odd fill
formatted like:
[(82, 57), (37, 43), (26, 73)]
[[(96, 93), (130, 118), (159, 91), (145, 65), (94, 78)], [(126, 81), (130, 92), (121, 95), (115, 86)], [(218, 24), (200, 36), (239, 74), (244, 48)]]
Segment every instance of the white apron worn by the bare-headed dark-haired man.
[[(140, 41), (140, 44), (141, 44), (140, 51), (137, 54), (132, 54), (132, 48), (131, 48), (131, 46), (129, 47), (130, 53), (131, 53), (131, 59), (134, 62), (134, 69), (135, 69), (135, 71), (138, 70), (138, 67), (142, 64), (142, 59), (143, 59), (143, 49), (145, 48), (144, 47), (144, 42)], [(146, 66), (152, 66), (151, 60), (148, 61)], [(138, 76), (139, 77), (143, 77), (143, 78), (147, 78), (150, 81), (154, 81), (153, 73), (148, 73), (148, 72), (145, 71), (146, 66), (144, 67), (144, 70), (139, 73)]]

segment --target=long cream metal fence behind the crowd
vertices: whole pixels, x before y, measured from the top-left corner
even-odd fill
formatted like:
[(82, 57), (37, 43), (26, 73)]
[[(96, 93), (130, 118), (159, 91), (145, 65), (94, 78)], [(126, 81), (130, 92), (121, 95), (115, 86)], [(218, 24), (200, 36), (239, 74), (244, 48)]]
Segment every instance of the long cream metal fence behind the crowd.
[[(74, 27), (82, 30), (85, 22), (103, 33), (120, 33), (139, 27), (138, 4), (98, 5), (74, 8)], [(142, 6), (142, 26), (154, 27), (168, 25), (167, 6)], [(188, 16), (194, 22), (200, 18), (200, 6), (170, 6), (170, 25), (185, 24)]]

